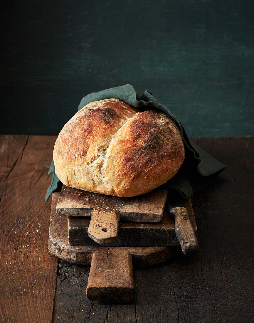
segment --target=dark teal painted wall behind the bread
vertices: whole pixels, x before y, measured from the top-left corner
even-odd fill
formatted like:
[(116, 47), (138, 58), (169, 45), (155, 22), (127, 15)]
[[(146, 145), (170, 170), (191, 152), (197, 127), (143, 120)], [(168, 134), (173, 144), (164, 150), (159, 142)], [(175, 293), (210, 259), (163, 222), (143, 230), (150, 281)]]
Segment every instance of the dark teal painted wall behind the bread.
[(93, 91), (150, 90), (190, 136), (253, 135), (253, 0), (10, 1), (1, 133), (58, 134)]

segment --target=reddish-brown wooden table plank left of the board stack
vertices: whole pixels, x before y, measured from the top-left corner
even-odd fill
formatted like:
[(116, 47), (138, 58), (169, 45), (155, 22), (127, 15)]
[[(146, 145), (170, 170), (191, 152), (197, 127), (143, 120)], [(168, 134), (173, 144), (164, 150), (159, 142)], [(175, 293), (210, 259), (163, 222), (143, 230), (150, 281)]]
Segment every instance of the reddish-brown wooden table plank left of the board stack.
[(57, 258), (48, 252), (54, 137), (0, 136), (0, 320), (51, 322)]

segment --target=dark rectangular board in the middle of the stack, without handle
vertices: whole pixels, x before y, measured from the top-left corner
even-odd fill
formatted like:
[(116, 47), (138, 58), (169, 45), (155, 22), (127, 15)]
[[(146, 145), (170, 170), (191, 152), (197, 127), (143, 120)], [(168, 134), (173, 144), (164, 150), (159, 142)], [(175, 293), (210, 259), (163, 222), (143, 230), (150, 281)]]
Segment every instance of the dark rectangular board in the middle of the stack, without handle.
[[(169, 204), (174, 205), (173, 201), (169, 202)], [(185, 200), (185, 206), (188, 210), (192, 227), (196, 232), (197, 227), (191, 205), (191, 199)], [(89, 225), (90, 218), (69, 216), (69, 244), (95, 246), (96, 243), (87, 235)], [(175, 220), (170, 216), (168, 207), (166, 206), (161, 222), (140, 223), (120, 221), (117, 240), (107, 245), (179, 245), (175, 235)]]

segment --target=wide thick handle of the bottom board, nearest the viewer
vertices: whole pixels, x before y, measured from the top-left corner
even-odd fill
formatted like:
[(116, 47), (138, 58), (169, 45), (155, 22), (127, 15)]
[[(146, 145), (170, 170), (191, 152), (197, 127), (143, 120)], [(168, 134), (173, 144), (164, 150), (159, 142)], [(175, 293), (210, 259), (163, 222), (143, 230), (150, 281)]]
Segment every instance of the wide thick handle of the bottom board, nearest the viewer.
[(132, 256), (100, 248), (92, 256), (86, 297), (99, 302), (129, 302), (135, 297)]

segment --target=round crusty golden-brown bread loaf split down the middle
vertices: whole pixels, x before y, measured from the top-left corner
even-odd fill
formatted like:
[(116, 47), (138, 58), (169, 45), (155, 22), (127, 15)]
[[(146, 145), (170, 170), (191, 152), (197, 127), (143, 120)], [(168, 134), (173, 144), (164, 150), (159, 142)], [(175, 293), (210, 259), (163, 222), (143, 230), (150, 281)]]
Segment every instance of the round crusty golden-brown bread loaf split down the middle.
[(115, 196), (150, 192), (172, 178), (185, 157), (174, 121), (138, 112), (118, 99), (90, 102), (63, 127), (53, 159), (59, 180)]

